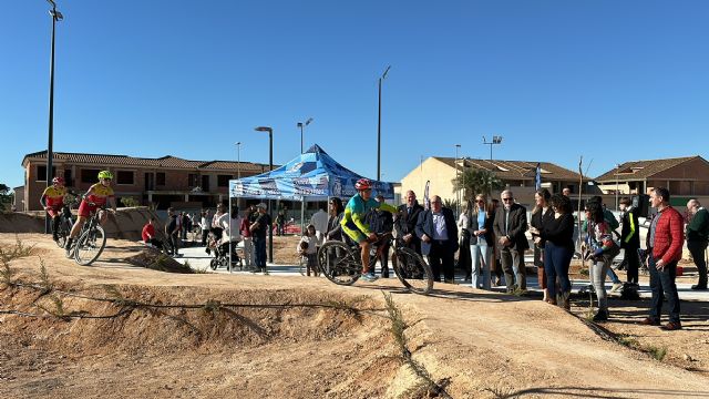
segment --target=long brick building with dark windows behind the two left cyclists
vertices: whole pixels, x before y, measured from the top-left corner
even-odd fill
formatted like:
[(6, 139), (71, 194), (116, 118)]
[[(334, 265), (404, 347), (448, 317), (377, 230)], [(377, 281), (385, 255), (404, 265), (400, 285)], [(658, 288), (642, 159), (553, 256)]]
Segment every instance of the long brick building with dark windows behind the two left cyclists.
[[(40, 196), (47, 187), (47, 151), (24, 155), (24, 186), (18, 211), (41, 209)], [(276, 167), (276, 166), (274, 166)], [(268, 171), (267, 164), (232, 161), (189, 161), (166, 155), (144, 158), (111, 154), (54, 153), (53, 176), (63, 176), (66, 186), (85, 192), (97, 182), (100, 171), (113, 173), (113, 190), (121, 198), (141, 205), (198, 208), (228, 201), (229, 180)]]

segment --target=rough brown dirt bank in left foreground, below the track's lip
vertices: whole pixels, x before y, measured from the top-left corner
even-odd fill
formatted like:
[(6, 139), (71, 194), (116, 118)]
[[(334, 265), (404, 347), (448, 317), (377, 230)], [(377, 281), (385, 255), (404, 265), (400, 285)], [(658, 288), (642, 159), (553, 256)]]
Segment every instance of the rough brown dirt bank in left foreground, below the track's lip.
[(63, 315), (0, 318), (2, 397), (363, 398), (386, 396), (397, 375), (398, 390), (414, 381), (363, 297), (72, 286), (40, 298), (6, 288), (0, 300)]

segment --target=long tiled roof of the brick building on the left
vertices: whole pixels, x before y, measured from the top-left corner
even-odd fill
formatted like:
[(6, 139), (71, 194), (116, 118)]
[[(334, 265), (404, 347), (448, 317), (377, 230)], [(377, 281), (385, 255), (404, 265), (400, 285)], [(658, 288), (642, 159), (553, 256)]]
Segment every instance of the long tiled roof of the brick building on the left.
[[(22, 165), (28, 160), (42, 160), (47, 158), (47, 151), (40, 151), (24, 155)], [(145, 158), (127, 155), (113, 155), (113, 154), (81, 154), (81, 153), (64, 153), (55, 152), (54, 160), (66, 163), (78, 164), (94, 164), (94, 165), (119, 165), (119, 166), (146, 166), (158, 168), (187, 168), (187, 170), (209, 170), (209, 171), (236, 171), (237, 162), (233, 161), (191, 161), (183, 160), (172, 155), (165, 155), (158, 158)], [(268, 165), (257, 164), (251, 162), (242, 162), (243, 172), (258, 172), (268, 168)], [(276, 167), (276, 165), (274, 165)]]

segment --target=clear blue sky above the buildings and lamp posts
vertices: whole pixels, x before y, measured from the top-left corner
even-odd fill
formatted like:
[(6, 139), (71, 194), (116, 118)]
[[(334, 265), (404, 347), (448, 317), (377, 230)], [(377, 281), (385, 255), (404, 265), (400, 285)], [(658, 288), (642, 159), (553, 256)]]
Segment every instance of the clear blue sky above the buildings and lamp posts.
[[(589, 174), (709, 144), (707, 1), (59, 1), (54, 151), (275, 162), (320, 144), (383, 180), (421, 156)], [(47, 149), (51, 19), (3, 1), (0, 183)]]

